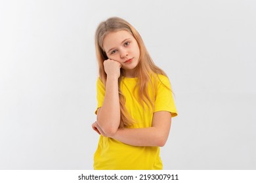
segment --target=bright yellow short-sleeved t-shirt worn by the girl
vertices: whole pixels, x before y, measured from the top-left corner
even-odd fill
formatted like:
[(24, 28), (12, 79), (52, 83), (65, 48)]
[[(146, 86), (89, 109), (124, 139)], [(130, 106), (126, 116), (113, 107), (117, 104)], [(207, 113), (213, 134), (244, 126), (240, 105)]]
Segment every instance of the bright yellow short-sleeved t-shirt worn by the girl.
[[(123, 77), (120, 83), (121, 92), (125, 95), (125, 107), (133, 119), (135, 124), (131, 128), (151, 127), (154, 112), (165, 110), (171, 112), (171, 116), (177, 116), (177, 110), (173, 101), (173, 96), (169, 79), (166, 76), (158, 75), (160, 80), (155, 81), (157, 91), (148, 89), (150, 97), (154, 99), (154, 109), (146, 110), (142, 108), (138, 101), (138, 90), (134, 91), (138, 78)], [(154, 80), (153, 80), (154, 81)], [(167, 88), (166, 88), (167, 86)], [(96, 82), (97, 88), (97, 109), (102, 107), (105, 95), (105, 87), (100, 78)], [(96, 113), (96, 111), (95, 111)], [(160, 147), (158, 146), (131, 146), (124, 144), (109, 137), (100, 135), (98, 148), (94, 156), (94, 169), (123, 169), (123, 170), (158, 170), (163, 169), (160, 158)]]

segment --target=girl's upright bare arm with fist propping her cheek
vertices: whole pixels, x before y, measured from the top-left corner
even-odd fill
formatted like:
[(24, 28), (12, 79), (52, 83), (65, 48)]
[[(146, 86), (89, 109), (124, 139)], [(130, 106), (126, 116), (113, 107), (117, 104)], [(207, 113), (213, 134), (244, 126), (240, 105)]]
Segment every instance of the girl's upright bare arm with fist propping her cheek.
[(97, 124), (107, 135), (116, 133), (120, 124), (120, 106), (118, 93), (118, 78), (120, 63), (114, 60), (104, 61), (107, 73), (106, 90), (102, 107), (97, 110)]

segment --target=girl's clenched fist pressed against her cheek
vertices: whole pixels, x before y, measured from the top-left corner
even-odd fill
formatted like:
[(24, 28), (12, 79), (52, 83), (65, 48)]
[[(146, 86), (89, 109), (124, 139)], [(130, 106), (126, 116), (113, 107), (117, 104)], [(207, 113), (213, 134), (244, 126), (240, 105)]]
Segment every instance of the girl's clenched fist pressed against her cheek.
[(117, 76), (117, 78), (119, 78), (121, 63), (114, 59), (106, 59), (103, 64), (105, 73), (108, 76)]

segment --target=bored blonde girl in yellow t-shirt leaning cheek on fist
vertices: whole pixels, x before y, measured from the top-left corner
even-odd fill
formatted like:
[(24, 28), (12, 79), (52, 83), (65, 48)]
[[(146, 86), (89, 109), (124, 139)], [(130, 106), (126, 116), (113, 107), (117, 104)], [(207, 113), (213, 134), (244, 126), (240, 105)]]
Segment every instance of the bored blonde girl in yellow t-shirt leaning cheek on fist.
[(177, 116), (167, 75), (121, 18), (98, 25), (95, 46), (98, 105), (92, 127), (100, 139), (94, 169), (162, 169), (160, 146)]

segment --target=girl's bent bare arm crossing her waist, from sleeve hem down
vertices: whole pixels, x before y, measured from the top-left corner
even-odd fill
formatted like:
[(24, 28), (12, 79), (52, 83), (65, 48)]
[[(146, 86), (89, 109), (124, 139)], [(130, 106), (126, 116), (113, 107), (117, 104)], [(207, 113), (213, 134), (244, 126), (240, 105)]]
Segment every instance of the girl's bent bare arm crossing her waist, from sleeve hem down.
[(118, 129), (110, 136), (113, 139), (133, 146), (164, 146), (171, 129), (171, 112), (155, 112), (152, 127)]

